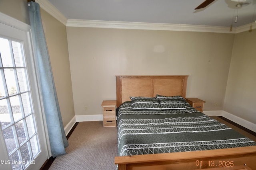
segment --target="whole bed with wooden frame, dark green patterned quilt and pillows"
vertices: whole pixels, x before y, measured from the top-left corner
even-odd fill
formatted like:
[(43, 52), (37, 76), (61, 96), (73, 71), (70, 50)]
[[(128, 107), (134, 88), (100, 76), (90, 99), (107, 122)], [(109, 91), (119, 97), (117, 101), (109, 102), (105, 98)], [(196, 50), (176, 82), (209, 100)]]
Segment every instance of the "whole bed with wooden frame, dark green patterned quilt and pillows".
[(256, 169), (256, 143), (191, 107), (187, 79), (116, 76), (118, 170)]

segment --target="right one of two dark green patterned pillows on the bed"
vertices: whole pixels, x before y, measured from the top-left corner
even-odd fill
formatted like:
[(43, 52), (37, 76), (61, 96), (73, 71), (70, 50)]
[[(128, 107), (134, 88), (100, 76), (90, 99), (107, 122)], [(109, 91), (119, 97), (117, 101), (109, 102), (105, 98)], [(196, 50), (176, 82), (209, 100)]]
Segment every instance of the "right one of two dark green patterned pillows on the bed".
[(185, 99), (182, 96), (160, 96), (157, 95), (161, 109), (186, 109)]

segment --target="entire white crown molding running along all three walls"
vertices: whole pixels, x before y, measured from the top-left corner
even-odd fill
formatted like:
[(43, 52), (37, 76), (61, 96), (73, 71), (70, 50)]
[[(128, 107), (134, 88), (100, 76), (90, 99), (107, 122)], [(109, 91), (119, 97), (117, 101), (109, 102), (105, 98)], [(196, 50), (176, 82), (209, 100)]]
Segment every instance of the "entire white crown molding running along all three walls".
[[(194, 32), (213, 32), (213, 33), (240, 33), (256, 28), (256, 23), (250, 23), (240, 27), (217, 27), (206, 25), (186, 25), (186, 24), (167, 24), (167, 23), (142, 23), (142, 22), (121, 22), (121, 21), (98, 21), (98, 20), (70, 20), (67, 19), (57, 8), (48, 0), (37, 0), (40, 7), (59, 20), (67, 27), (94, 27), (94, 28), (117, 28), (117, 29), (147, 29), (147, 30), (166, 30), (166, 31), (194, 31)], [(251, 28), (252, 27), (252, 28)]]

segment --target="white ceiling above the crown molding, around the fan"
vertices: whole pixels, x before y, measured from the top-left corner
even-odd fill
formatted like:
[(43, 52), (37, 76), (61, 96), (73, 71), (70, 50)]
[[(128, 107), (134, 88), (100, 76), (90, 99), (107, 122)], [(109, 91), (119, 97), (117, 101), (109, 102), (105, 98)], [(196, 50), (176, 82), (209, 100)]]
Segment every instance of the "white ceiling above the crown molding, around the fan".
[[(256, 0), (235, 7), (238, 2), (215, 0), (194, 10), (204, 0), (48, 0), (68, 20), (122, 21), (239, 27), (256, 20)], [(234, 16), (238, 15), (237, 23)]]

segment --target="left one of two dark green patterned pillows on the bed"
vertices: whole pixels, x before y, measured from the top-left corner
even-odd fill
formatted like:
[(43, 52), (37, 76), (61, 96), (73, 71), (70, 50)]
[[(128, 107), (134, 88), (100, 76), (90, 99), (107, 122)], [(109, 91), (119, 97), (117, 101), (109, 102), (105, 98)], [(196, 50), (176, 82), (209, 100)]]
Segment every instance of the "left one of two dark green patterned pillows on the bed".
[(132, 109), (160, 109), (157, 98), (149, 97), (130, 97), (132, 100)]

